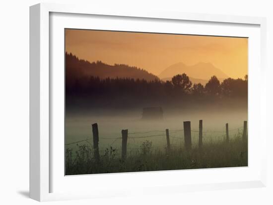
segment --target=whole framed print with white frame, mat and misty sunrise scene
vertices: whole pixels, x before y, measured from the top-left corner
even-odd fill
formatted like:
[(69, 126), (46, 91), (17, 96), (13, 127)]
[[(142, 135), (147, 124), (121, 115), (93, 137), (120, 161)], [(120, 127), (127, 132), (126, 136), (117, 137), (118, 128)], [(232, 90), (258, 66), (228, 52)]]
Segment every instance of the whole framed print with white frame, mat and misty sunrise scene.
[(264, 18), (37, 4), (30, 42), (31, 198), (265, 186)]

